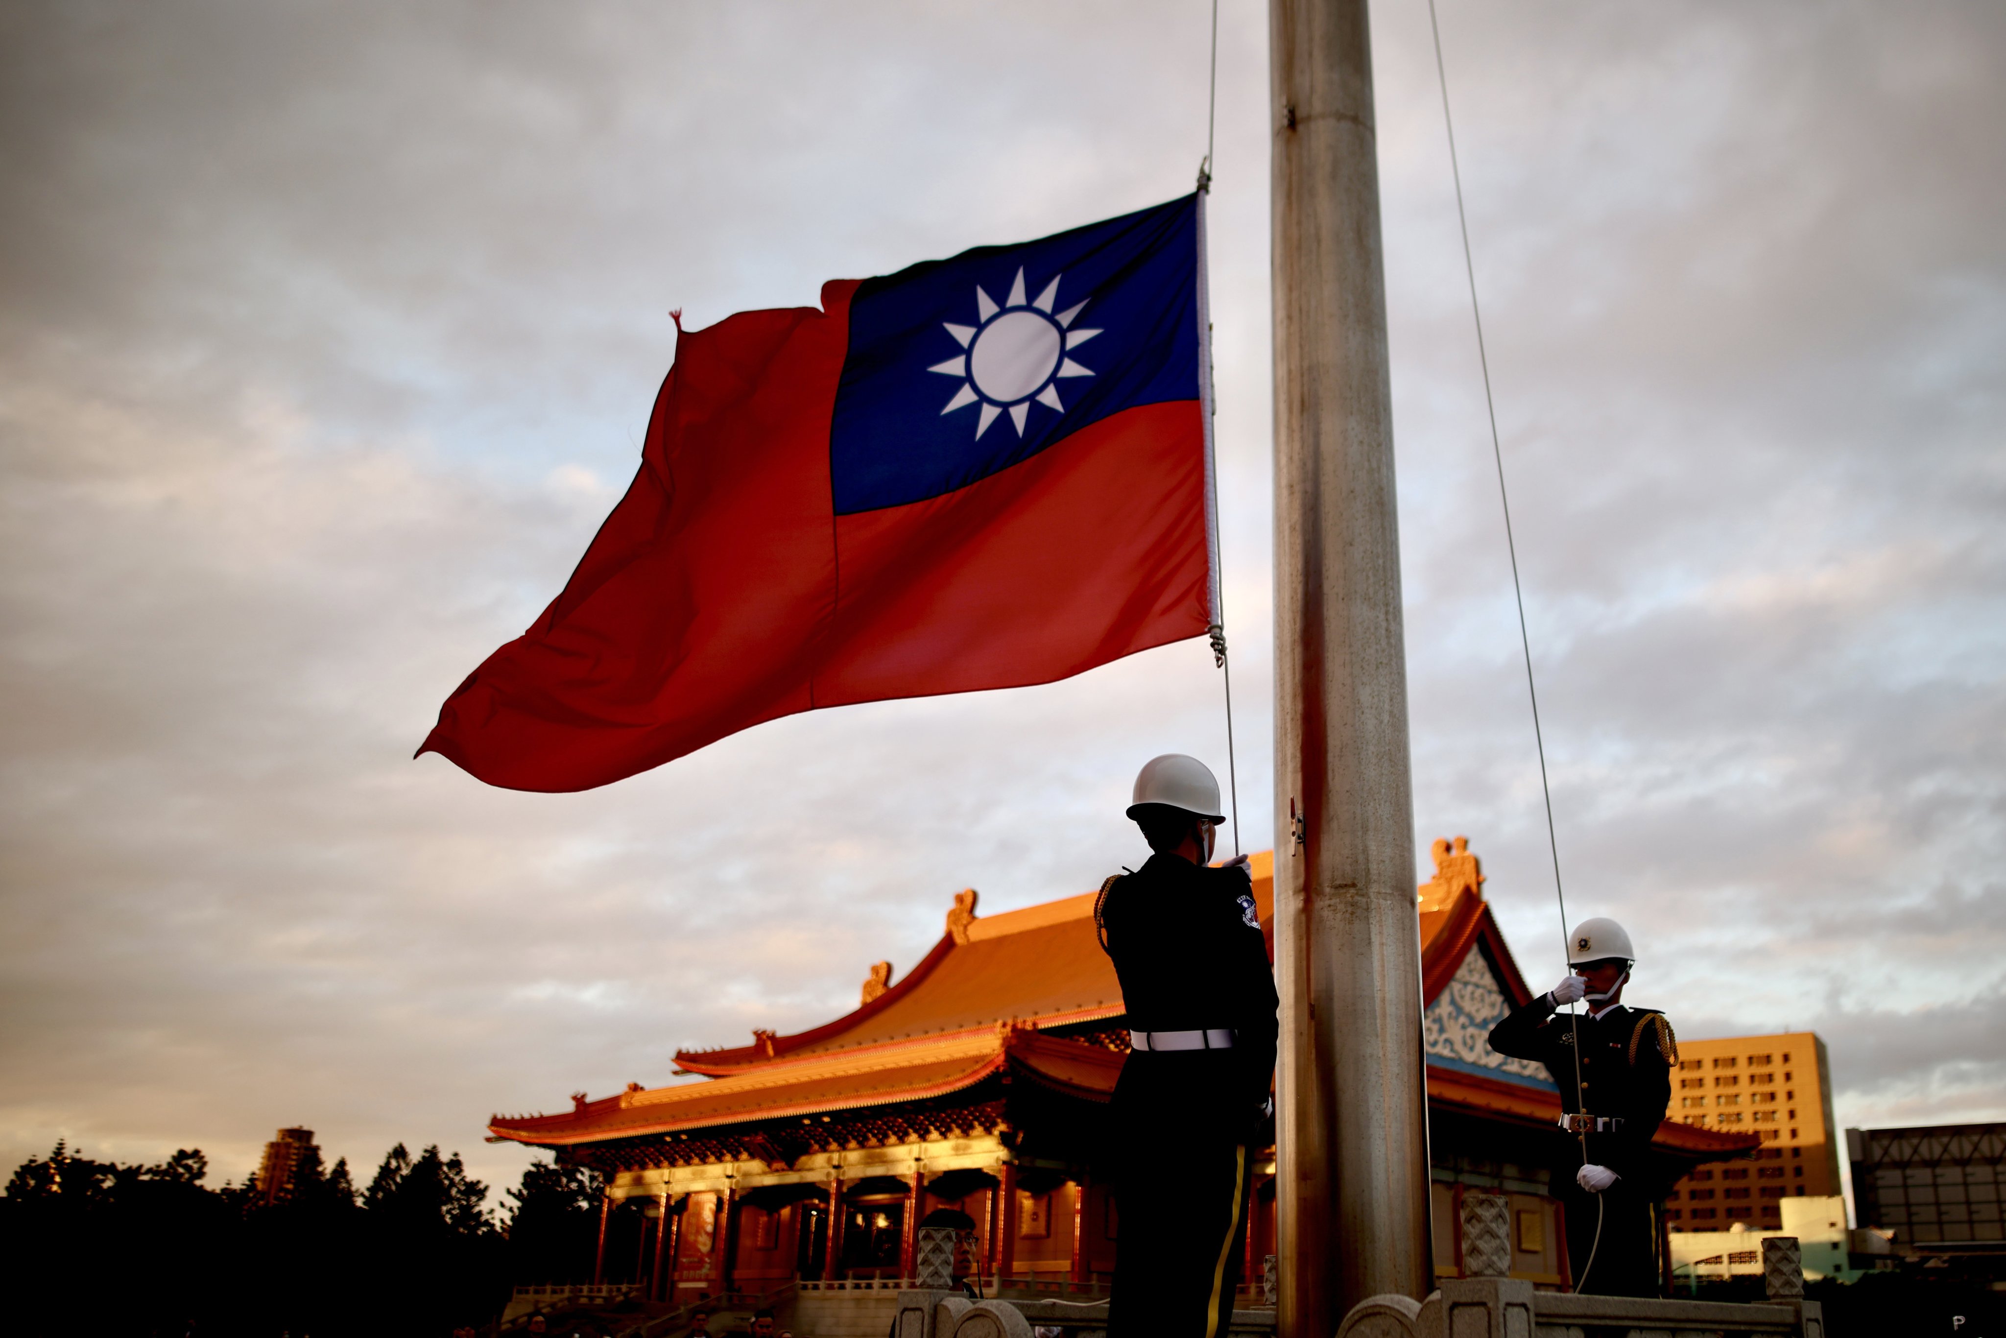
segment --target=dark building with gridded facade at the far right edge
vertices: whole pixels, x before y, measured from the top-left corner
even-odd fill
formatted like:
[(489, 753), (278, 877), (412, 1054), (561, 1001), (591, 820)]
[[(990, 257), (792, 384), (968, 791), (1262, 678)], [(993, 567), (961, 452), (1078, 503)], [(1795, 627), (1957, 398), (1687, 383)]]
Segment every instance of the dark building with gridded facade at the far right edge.
[(2006, 1254), (2006, 1123), (1848, 1129), (1854, 1218), (1916, 1254)]

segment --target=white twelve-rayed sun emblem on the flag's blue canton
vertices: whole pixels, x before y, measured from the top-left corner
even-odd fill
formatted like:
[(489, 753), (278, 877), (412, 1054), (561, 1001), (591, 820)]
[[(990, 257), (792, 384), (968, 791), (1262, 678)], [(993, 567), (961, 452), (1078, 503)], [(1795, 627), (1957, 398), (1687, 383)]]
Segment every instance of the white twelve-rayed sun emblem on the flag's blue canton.
[[(1097, 329), (1067, 329), (1073, 317), (1087, 303), (1067, 307), (1051, 315), (1059, 297), (1059, 277), (1055, 275), (1037, 301), (1023, 299), (1023, 269), (1009, 287), (1009, 301), (995, 305), (981, 285), (975, 287), (975, 313), (979, 325), (947, 325), (947, 333), (961, 343), (967, 353), (935, 363), (927, 371), (943, 377), (963, 377), (961, 389), (947, 401), (941, 413), (965, 409), (971, 403), (983, 407), (975, 419), (975, 439), (979, 441), (989, 423), (1009, 409), (1009, 421), (1023, 435), (1023, 425), (1031, 417), (1031, 401), (1065, 413), (1059, 401), (1061, 377), (1091, 377), (1093, 373), (1067, 357), (1073, 349), (1093, 339)], [(1091, 301), (1091, 299), (1089, 299)]]

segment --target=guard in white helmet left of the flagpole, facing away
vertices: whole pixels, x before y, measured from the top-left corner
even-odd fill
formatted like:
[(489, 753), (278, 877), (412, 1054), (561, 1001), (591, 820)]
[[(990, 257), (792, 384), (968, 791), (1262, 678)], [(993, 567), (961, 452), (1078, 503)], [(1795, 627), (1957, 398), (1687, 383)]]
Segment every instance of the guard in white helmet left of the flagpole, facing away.
[(1172, 752), (1135, 776), (1149, 861), (1101, 885), (1129, 1055), (1111, 1109), (1109, 1338), (1220, 1338), (1246, 1248), (1250, 1151), (1272, 1115), (1280, 999), (1246, 859), (1212, 867), (1220, 782)]

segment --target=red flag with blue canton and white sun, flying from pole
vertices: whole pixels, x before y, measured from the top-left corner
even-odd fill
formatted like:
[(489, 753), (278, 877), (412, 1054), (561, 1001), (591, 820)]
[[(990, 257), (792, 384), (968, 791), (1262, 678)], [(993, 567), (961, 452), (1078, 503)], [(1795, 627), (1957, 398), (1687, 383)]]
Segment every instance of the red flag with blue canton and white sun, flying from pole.
[(640, 473), (419, 752), (584, 790), (1214, 622), (1202, 199), (684, 333)]

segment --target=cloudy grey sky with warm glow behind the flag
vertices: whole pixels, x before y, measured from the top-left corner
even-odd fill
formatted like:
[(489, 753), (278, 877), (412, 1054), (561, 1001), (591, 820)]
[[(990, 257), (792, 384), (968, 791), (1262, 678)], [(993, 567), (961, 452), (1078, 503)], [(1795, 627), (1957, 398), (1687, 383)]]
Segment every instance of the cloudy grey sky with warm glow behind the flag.
[[(1685, 1035), (1844, 1123), (2006, 1117), (2006, 12), (1444, 0), (1561, 859)], [(588, 794), (411, 760), (558, 590), (674, 347), (1190, 189), (1208, 6), (0, 16), (0, 1155), (241, 1178), (851, 1007), (953, 893), (1093, 887), (1224, 770), (1200, 644), (760, 726)], [(1428, 12), (1374, 12), (1418, 859), (1559, 973)], [(1272, 843), (1266, 12), (1214, 307), (1242, 818)], [(0, 1167), (4, 1169), (4, 1167)]]

